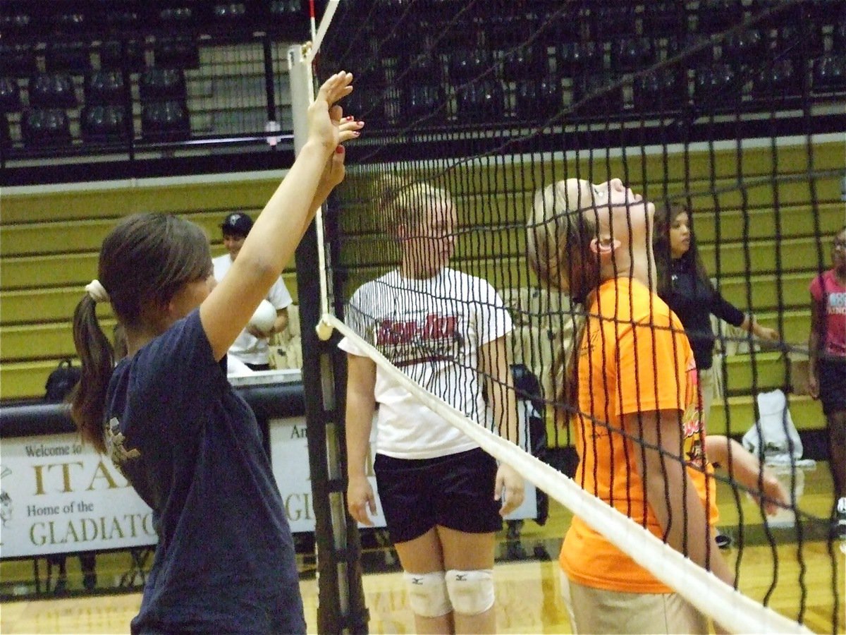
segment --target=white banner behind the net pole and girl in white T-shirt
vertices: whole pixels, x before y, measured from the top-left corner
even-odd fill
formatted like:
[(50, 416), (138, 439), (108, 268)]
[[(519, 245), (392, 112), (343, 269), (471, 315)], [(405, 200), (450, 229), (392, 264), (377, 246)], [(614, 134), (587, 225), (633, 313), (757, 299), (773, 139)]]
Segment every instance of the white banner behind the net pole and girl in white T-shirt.
[[(311, 503), (311, 479), (309, 469), (308, 438), (305, 417), (271, 419), (270, 444), (273, 476), (282, 494), (282, 502), (288, 516), (291, 531), (313, 532), (315, 530), (314, 508)], [(367, 454), (367, 479), (376, 498), (376, 514), (371, 516), (374, 527), (385, 527), (382, 502), (376, 489), (376, 475), (373, 472), (373, 455), (376, 449), (376, 423), (371, 427), (371, 451)], [(535, 486), (525, 483), (525, 500), (507, 520), (535, 518), (537, 498)], [(360, 525), (360, 527), (365, 527)]]

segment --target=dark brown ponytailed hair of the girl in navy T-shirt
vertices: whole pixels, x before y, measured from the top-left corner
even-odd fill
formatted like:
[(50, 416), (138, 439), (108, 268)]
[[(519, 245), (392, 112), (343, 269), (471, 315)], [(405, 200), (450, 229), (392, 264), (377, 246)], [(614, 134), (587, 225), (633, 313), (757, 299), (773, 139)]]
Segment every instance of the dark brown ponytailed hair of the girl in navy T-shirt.
[[(124, 218), (103, 240), (97, 279), (109, 295), (123, 328), (144, 325), (146, 315), (166, 306), (184, 284), (211, 274), (211, 251), (199, 225), (172, 214), (136, 214)], [(74, 311), (74, 345), (82, 378), (71, 416), (82, 438), (105, 450), (103, 418), (106, 391), (115, 362), (112, 343), (87, 293)]]

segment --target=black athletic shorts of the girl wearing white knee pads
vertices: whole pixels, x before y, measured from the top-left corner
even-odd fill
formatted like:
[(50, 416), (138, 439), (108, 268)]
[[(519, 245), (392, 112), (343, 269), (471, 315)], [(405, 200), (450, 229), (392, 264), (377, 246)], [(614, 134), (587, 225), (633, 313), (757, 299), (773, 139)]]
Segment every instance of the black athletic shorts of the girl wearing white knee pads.
[(373, 468), (393, 543), (418, 538), (436, 525), (466, 533), (503, 527), (502, 501), (493, 500), (497, 461), (481, 448), (434, 459), (376, 455)]

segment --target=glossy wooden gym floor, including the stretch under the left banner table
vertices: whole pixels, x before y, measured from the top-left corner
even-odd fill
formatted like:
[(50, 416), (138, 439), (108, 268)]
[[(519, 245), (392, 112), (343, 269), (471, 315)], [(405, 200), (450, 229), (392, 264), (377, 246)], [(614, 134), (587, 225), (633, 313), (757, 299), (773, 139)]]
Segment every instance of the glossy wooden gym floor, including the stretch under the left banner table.
[[(801, 474), (797, 479), (799, 508), (810, 516), (827, 517), (832, 505), (832, 483), (827, 465), (817, 462), (816, 467), (802, 470)], [(740, 511), (733, 504), (732, 493), (723, 484), (717, 499), (725, 501), (721, 505), (721, 530), (733, 538), (733, 544), (723, 553), (732, 564), (739, 566), (740, 590), (759, 602), (768, 595), (767, 604), (773, 610), (793, 619), (799, 619), (801, 614), (805, 626), (813, 632), (843, 632), (846, 624), (842, 617), (837, 631), (832, 623), (835, 606), (832, 581), (837, 580), (838, 607), (842, 614), (846, 555), (839, 548), (842, 544), (838, 543), (833, 543), (829, 551), (827, 522), (803, 522), (802, 549), (797, 549), (798, 532), (793, 519), (789, 515), (777, 516), (768, 526), (773, 538), (771, 546), (760, 512), (745, 494), (739, 497)], [(741, 514), (745, 527), (743, 549), (738, 547)], [(543, 526), (527, 520), (521, 527), (503, 528), (494, 572), (500, 632), (572, 632), (560, 596), (556, 561), (570, 517), (569, 511), (552, 501)], [(311, 541), (307, 538), (301, 536), (298, 541), (304, 552), (299, 556), (300, 588), (309, 631), (316, 632), (315, 560), (310, 552)], [(362, 534), (362, 544), (363, 586), (370, 613), (370, 632), (414, 632), (414, 618), (405, 605), (398, 561), (387, 538), (371, 531)], [(79, 559), (71, 557), (68, 559), (67, 586), (59, 596), (54, 593), (55, 570), (48, 581), (43, 559), (39, 562), (39, 584), (42, 591), (49, 590), (38, 596), (32, 593), (33, 560), (0, 562), (4, 600), (0, 606), (0, 632), (129, 632), (129, 621), (140, 605), (138, 585), (149, 560), (149, 557), (144, 560), (143, 554), (136, 553), (133, 558), (124, 551), (98, 555), (96, 589), (89, 592), (83, 584)], [(834, 566), (836, 572), (832, 569)], [(16, 596), (16, 593), (21, 595)]]

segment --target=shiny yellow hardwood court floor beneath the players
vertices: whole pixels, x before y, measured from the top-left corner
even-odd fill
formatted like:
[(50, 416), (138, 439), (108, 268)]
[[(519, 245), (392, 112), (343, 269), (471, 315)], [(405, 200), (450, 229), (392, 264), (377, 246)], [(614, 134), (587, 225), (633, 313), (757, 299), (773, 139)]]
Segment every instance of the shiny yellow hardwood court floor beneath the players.
[[(826, 516), (831, 505), (831, 480), (827, 466), (818, 464), (816, 470), (805, 473), (800, 508), (815, 516)], [(721, 486), (718, 500), (728, 501), (731, 494)], [(741, 496), (744, 522), (753, 525), (755, 505)], [(736, 533), (737, 511), (722, 506), (721, 526), (727, 533)], [(497, 587), (497, 625), (500, 632), (509, 633), (569, 633), (567, 612), (559, 593), (558, 555), (561, 536), (569, 524), (569, 513), (553, 503), (544, 527), (526, 521), (520, 536), (520, 546), (528, 552), (525, 560), (497, 561), (494, 572)], [(760, 530), (750, 529), (744, 534), (746, 546), (739, 564), (740, 589), (744, 594), (761, 601), (770, 592), (768, 605), (783, 615), (797, 619), (800, 607), (800, 586), (807, 589), (802, 621), (813, 632), (832, 632), (834, 597), (832, 581), (837, 580), (839, 606), (843, 612), (846, 555), (834, 544), (833, 554), (820, 531), (809, 531), (801, 552), (797, 549), (795, 532), (788, 528), (773, 530), (776, 546), (771, 547)], [(504, 538), (504, 536), (503, 536)], [(512, 544), (514, 546), (514, 544)], [(501, 555), (506, 544), (501, 543)], [(539, 560), (533, 553), (544, 551), (552, 560)], [(739, 549), (723, 552), (734, 564)], [(801, 557), (799, 557), (801, 553)], [(373, 549), (368, 560), (391, 560), (389, 551)], [(777, 564), (776, 564), (777, 563)], [(836, 578), (832, 566), (836, 564)], [(804, 574), (800, 575), (804, 567)], [(372, 569), (373, 567), (370, 567)], [(772, 583), (777, 571), (776, 583)], [(771, 590), (772, 587), (772, 590)], [(310, 632), (316, 632), (317, 583), (304, 580), (300, 588), (305, 599), (305, 616)], [(365, 600), (370, 610), (372, 633), (414, 632), (414, 621), (405, 606), (404, 584), (401, 574), (393, 572), (368, 573), (364, 577)], [(0, 606), (0, 632), (3, 633), (125, 633), (129, 621), (140, 605), (140, 594), (108, 594), (65, 599), (37, 599), (5, 602)], [(838, 632), (843, 632), (841, 617)]]

